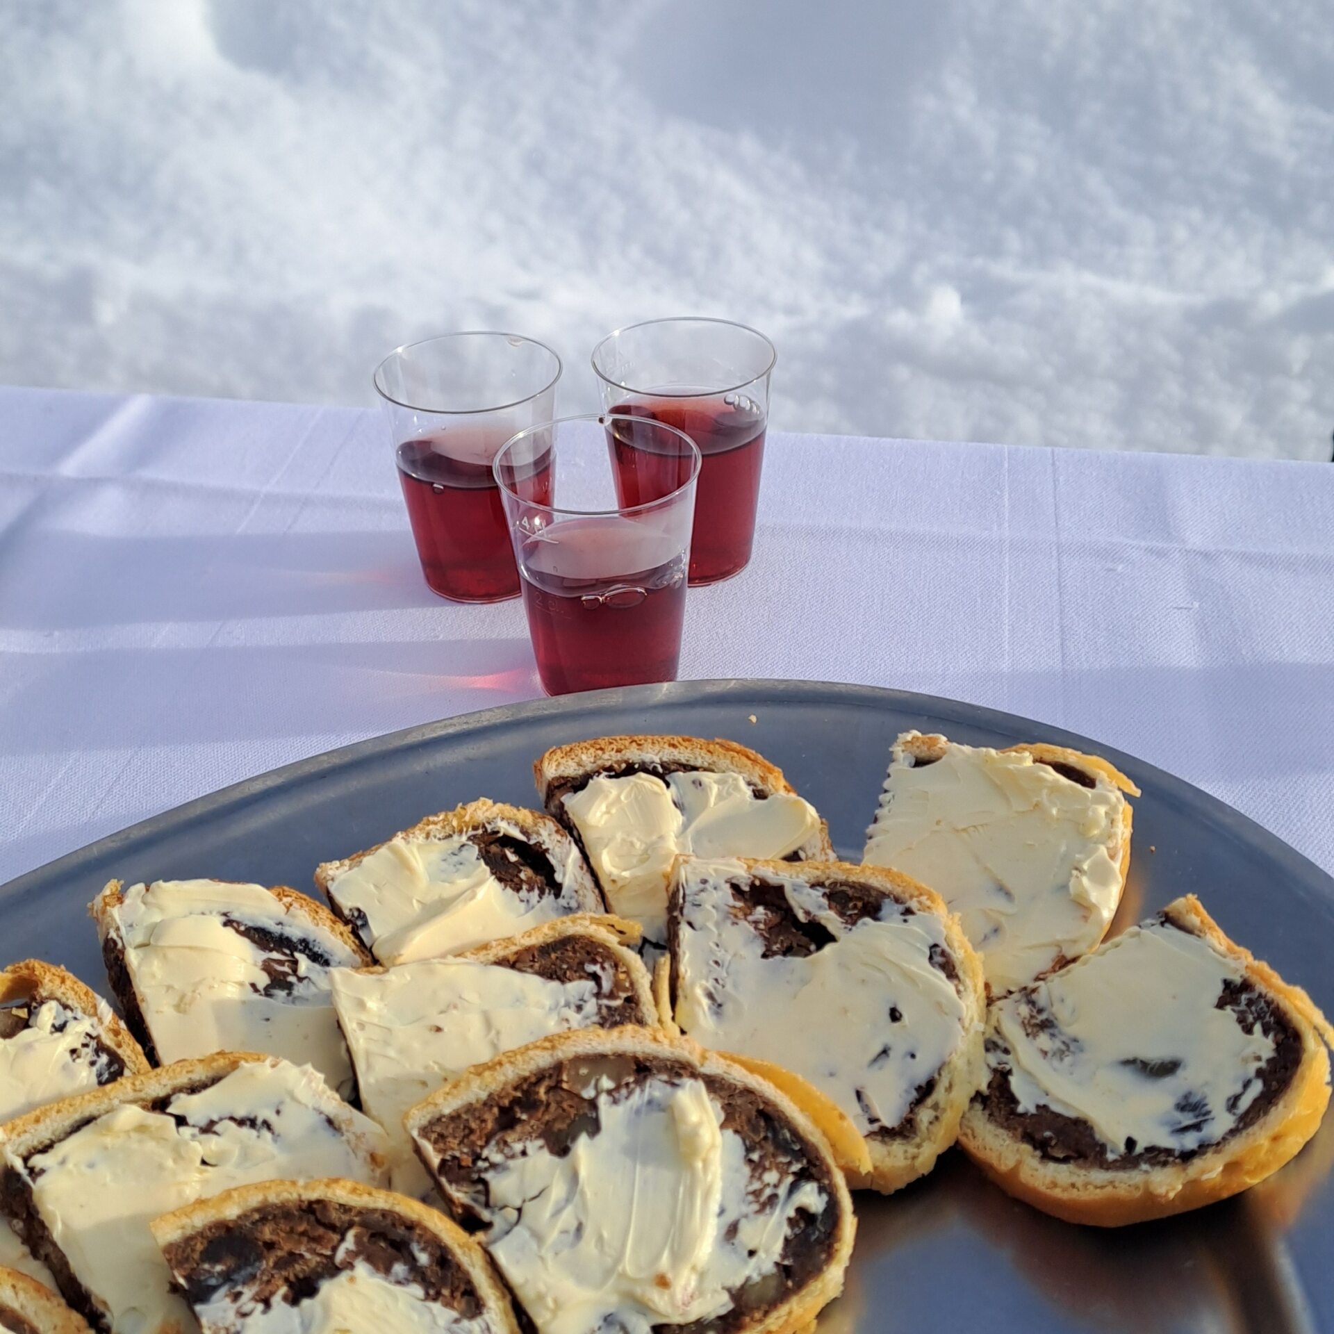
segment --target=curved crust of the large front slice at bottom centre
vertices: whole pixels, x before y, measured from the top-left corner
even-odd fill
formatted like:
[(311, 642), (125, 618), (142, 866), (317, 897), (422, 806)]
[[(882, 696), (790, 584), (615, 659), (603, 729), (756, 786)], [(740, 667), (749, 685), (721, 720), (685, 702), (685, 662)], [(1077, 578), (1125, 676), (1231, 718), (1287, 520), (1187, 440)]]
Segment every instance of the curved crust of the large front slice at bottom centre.
[[(550, 1038), (540, 1038), (527, 1047), (519, 1047), (515, 1051), (496, 1057), (494, 1061), (488, 1061), (483, 1066), (474, 1067), (467, 1074), (460, 1075), (431, 1094), (430, 1098), (419, 1102), (404, 1117), (404, 1126), (414, 1137), (418, 1154), (423, 1163), (426, 1163), (427, 1171), (435, 1177), (430, 1158), (423, 1153), (422, 1145), (416, 1142), (416, 1133), (423, 1126), (459, 1107), (484, 1102), (516, 1079), (536, 1074), (548, 1066), (579, 1057), (602, 1055), (679, 1061), (695, 1067), (700, 1074), (714, 1075), (739, 1085), (772, 1106), (794, 1127), (800, 1138), (806, 1141), (807, 1146), (815, 1153), (815, 1157), (824, 1162), (830, 1182), (836, 1194), (839, 1214), (838, 1233), (834, 1239), (834, 1251), (830, 1263), (799, 1293), (795, 1293), (775, 1310), (770, 1311), (763, 1319), (746, 1326), (744, 1334), (796, 1334), (796, 1331), (810, 1326), (820, 1310), (843, 1290), (843, 1275), (847, 1271), (847, 1263), (852, 1254), (856, 1218), (852, 1214), (852, 1199), (847, 1193), (843, 1173), (824, 1135), (795, 1102), (748, 1070), (735, 1062), (727, 1061), (724, 1057), (706, 1051), (688, 1038), (671, 1037), (663, 1031), (632, 1026), (611, 1030), (580, 1029), (572, 1033), (559, 1033)], [(439, 1178), (436, 1181), (446, 1198), (448, 1198), (444, 1183)]]

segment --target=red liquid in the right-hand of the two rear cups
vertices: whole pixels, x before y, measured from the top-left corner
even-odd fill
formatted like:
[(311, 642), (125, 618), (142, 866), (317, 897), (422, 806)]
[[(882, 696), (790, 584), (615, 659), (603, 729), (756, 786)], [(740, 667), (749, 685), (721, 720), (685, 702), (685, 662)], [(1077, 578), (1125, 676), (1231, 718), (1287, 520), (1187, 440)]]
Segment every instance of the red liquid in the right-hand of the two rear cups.
[[(734, 402), (728, 402), (731, 398)], [(664, 422), (684, 431), (703, 455), (695, 487), (695, 530), (690, 543), (690, 582), (712, 583), (746, 568), (755, 542), (755, 507), (764, 462), (764, 414), (750, 399), (719, 395), (700, 399), (643, 399), (608, 410)], [(630, 448), (612, 436), (620, 503), (656, 500), (672, 490), (646, 462), (647, 444)], [(678, 460), (660, 456), (675, 475)], [(679, 484), (679, 483), (676, 483)]]

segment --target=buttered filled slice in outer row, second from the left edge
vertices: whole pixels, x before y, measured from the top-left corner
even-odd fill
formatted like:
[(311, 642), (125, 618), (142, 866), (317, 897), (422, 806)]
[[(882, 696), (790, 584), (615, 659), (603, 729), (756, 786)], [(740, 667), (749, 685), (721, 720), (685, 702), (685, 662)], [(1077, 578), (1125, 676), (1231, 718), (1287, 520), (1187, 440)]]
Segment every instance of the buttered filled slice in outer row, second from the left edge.
[(116, 999), (156, 1061), (263, 1051), (352, 1095), (329, 971), (371, 959), (323, 904), (285, 887), (112, 880), (91, 911)]

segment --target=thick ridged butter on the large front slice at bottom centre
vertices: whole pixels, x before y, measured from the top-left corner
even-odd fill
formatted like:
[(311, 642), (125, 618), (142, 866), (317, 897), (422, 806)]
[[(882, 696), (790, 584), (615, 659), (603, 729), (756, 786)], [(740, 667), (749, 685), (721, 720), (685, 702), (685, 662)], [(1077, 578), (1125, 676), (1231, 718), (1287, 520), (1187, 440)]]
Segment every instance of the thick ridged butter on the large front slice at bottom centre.
[(599, 1130), (562, 1157), (540, 1139), (484, 1166), (487, 1249), (540, 1334), (648, 1334), (731, 1310), (771, 1274), (815, 1182), (767, 1174), (698, 1079), (648, 1078), (596, 1098)]

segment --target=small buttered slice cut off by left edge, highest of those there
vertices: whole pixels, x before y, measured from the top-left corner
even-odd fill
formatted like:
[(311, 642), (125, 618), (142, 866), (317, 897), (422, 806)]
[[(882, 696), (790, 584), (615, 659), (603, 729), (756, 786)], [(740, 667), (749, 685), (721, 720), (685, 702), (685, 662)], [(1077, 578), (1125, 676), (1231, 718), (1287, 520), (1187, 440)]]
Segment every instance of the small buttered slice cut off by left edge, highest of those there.
[(64, 968), (25, 959), (0, 971), (0, 1122), (147, 1069), (107, 1002)]

